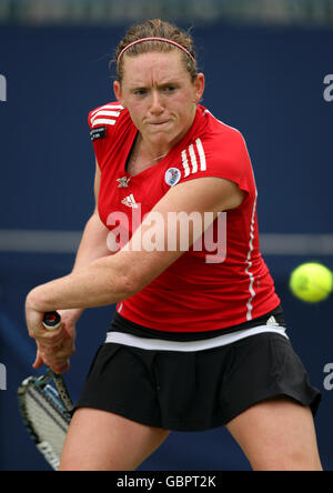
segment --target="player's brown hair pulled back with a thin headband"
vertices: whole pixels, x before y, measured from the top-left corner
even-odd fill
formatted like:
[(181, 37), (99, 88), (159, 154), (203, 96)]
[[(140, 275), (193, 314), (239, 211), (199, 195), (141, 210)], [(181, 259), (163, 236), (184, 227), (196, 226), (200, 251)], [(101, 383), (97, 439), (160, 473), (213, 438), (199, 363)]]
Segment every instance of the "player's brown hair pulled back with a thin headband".
[[(120, 41), (113, 60), (117, 66), (117, 78), (119, 82), (121, 82), (123, 79), (123, 57), (118, 60), (120, 53), (125, 47), (143, 38), (164, 38), (185, 48), (194, 60), (192, 60), (185, 52), (182, 52), (183, 64), (188, 70), (191, 80), (194, 82), (198, 76), (198, 64), (195, 61), (194, 43), (191, 34), (182, 31), (176, 26), (164, 22), (160, 19), (153, 19), (141, 24), (132, 26), (125, 33), (124, 38)], [(129, 57), (137, 57), (138, 54), (149, 53), (152, 51), (169, 52), (172, 50), (178, 50), (178, 48), (163, 41), (144, 41), (129, 48), (125, 54)]]

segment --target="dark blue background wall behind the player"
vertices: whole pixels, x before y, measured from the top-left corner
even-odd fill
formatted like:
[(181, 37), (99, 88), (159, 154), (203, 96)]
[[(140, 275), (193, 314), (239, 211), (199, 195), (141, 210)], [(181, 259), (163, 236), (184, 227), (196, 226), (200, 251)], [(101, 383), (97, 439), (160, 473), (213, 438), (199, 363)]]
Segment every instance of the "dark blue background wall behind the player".
[[(108, 63), (122, 33), (122, 28), (0, 28), (0, 73), (8, 80), (8, 101), (0, 103), (0, 234), (84, 227), (94, 172), (87, 115), (113, 99)], [(203, 104), (246, 139), (261, 231), (332, 233), (333, 102), (323, 98), (323, 79), (333, 73), (333, 32), (216, 26), (196, 28), (194, 37), (206, 76)], [(323, 392), (319, 443), (325, 469), (333, 470), (333, 392), (323, 388), (323, 368), (333, 362), (332, 298), (305, 305), (287, 290), (290, 270), (313, 259), (333, 268), (332, 256), (319, 253), (265, 258), (292, 342)], [(23, 303), (32, 286), (68, 273), (73, 260), (73, 254), (0, 252), (0, 362), (8, 372), (8, 390), (0, 392), (0, 470), (48, 470), (17, 410), (16, 391), (34, 356)], [(89, 310), (81, 319), (68, 374), (74, 396), (112, 312), (113, 306)], [(173, 433), (142, 469), (249, 464), (219, 429)]]

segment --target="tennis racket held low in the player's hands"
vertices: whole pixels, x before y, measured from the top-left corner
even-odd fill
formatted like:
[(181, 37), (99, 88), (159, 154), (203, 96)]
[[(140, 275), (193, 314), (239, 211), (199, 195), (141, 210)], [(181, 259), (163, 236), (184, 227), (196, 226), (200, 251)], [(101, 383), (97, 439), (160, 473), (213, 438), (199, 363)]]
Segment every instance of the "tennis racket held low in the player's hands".
[[(43, 325), (47, 330), (57, 330), (60, 324), (59, 313), (46, 313)], [(21, 383), (18, 399), (23, 423), (37, 449), (58, 471), (74, 409), (63, 378), (50, 369), (43, 376), (29, 376)]]

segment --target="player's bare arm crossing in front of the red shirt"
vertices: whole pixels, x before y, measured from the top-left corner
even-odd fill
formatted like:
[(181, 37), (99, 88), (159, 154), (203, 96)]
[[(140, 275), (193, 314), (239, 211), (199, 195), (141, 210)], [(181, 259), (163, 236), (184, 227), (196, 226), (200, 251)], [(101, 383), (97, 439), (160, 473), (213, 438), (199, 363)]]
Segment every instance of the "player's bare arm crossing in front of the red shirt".
[[(243, 192), (239, 187), (222, 178), (200, 178), (171, 188), (121, 251), (114, 255), (94, 260), (85, 268), (30, 292), (27, 299), (30, 331), (37, 330), (36, 313), (115, 303), (132, 296), (152, 282), (183, 253), (180, 244), (175, 251), (168, 251), (169, 212), (185, 212), (186, 214), (199, 212), (202, 218), (202, 230), (204, 230), (210, 225), (204, 222), (205, 212), (213, 212), (216, 218), (219, 212), (238, 207), (242, 200)], [(160, 221), (153, 220), (157, 213)], [(152, 219), (151, 222), (150, 219)], [(150, 234), (152, 224), (155, 234), (164, 235), (164, 251), (147, 251), (144, 247), (144, 238)], [(178, 231), (178, 240), (179, 238), (180, 231)], [(195, 238), (190, 228), (189, 244), (191, 245), (194, 241)]]

